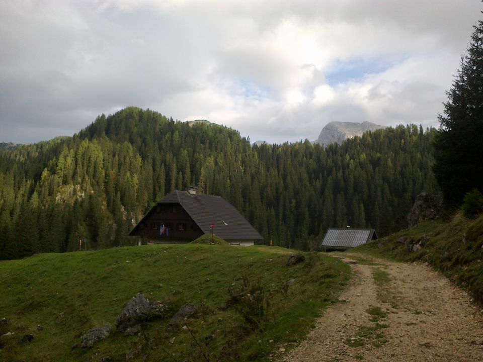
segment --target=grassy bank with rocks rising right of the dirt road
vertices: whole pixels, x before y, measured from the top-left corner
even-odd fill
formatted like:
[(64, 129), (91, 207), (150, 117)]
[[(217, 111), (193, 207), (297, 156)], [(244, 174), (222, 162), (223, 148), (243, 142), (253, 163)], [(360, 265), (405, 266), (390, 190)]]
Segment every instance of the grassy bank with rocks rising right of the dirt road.
[(379, 257), (428, 262), (483, 303), (483, 215), (427, 221), (355, 248)]

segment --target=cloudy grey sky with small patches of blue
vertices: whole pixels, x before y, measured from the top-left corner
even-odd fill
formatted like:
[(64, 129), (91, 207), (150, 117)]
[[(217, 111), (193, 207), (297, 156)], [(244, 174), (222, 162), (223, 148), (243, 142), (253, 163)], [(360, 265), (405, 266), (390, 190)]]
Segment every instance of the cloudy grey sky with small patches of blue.
[(438, 126), (479, 0), (0, 0), (0, 141), (127, 106), (251, 141)]

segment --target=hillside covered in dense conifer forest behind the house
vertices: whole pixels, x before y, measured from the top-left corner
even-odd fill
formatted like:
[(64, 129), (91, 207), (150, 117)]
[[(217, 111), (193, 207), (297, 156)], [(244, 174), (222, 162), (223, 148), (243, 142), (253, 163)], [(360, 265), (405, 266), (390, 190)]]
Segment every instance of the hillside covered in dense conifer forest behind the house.
[(324, 149), (250, 145), (235, 130), (127, 108), (73, 137), (0, 153), (0, 259), (132, 244), (132, 226), (172, 190), (231, 202), (275, 245), (309, 249), (329, 226), (407, 226), (433, 192), (435, 130), (399, 126)]

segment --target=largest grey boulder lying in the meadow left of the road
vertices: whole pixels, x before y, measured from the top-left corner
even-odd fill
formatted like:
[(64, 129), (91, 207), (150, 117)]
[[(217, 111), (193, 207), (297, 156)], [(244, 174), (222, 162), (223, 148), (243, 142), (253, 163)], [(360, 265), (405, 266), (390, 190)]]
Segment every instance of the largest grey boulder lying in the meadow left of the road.
[(153, 319), (166, 317), (169, 308), (160, 302), (149, 302), (144, 294), (138, 293), (132, 297), (116, 319), (116, 329), (124, 332), (126, 329)]

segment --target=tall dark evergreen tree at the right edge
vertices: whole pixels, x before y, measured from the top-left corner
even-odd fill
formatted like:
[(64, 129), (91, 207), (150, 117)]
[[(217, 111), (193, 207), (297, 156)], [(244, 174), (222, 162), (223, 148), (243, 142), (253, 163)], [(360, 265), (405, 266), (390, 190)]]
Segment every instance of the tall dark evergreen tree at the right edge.
[(434, 173), (446, 202), (456, 207), (472, 189), (483, 192), (483, 22), (474, 29), (435, 138)]

